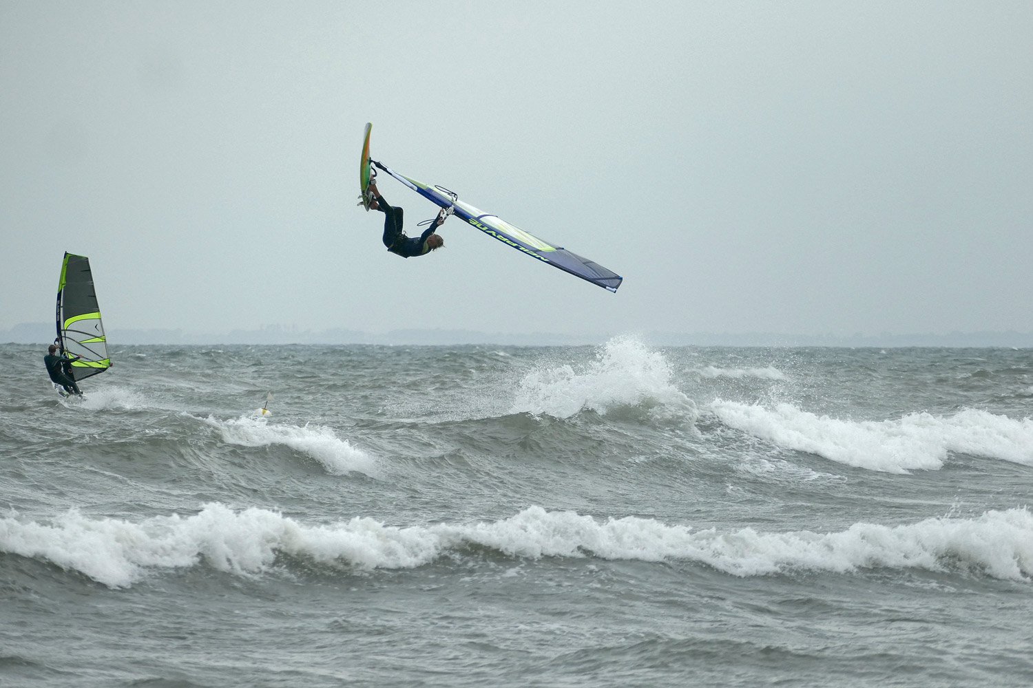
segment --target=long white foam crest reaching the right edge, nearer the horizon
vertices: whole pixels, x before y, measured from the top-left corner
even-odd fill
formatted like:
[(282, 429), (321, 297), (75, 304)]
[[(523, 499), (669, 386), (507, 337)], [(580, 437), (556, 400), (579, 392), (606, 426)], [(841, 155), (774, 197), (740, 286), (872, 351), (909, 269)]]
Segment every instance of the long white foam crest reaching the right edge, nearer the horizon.
[(725, 425), (788, 449), (858, 468), (905, 473), (935, 470), (948, 452), (1033, 465), (1033, 421), (977, 409), (950, 417), (909, 414), (891, 421), (843, 421), (790, 404), (774, 409), (717, 400), (711, 409)]

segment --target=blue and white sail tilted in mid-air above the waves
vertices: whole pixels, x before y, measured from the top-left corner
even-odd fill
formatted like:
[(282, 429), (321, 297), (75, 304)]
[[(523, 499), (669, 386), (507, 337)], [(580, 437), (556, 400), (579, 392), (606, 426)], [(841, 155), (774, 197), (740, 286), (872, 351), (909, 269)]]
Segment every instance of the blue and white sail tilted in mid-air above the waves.
[(532, 258), (543, 263), (549, 263), (553, 267), (558, 267), (561, 270), (565, 270), (570, 274), (576, 275), (582, 280), (587, 280), (612, 292), (616, 292), (617, 288), (621, 286), (621, 282), (624, 281), (624, 277), (613, 270), (607, 270), (595, 261), (582, 258), (563, 247), (550, 243), (530, 232), (510, 225), (498, 216), (484, 212), (469, 203), (459, 200), (459, 197), (447, 189), (438, 186), (432, 187), (404, 174), (399, 174), (389, 167), (374, 160), (370, 162), (424, 198), (431, 200), (441, 207), (453, 207), (456, 217), (462, 218), (467, 224)]

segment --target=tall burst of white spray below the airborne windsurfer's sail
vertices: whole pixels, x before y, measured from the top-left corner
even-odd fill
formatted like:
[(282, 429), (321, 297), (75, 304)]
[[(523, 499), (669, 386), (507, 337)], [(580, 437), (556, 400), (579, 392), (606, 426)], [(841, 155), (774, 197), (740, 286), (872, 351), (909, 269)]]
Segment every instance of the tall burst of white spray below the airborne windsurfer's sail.
[(646, 406), (665, 417), (695, 420), (695, 404), (671, 383), (670, 366), (658, 352), (630, 337), (607, 341), (581, 370), (561, 365), (528, 373), (510, 413), (570, 418), (590, 409)]

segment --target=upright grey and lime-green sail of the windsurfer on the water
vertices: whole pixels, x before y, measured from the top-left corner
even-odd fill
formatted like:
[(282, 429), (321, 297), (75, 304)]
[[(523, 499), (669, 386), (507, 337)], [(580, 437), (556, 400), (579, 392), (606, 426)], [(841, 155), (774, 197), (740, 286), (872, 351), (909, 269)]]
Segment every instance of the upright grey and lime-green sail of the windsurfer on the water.
[(57, 328), (62, 355), (81, 357), (66, 367), (72, 380), (83, 380), (111, 367), (90, 259), (86, 256), (65, 253), (58, 283)]

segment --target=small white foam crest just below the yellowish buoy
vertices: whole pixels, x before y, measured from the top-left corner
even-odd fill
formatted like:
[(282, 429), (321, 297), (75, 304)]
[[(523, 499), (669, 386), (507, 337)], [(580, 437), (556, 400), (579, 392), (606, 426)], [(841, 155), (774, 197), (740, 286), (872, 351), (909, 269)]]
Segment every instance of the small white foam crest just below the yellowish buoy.
[(268, 418), (244, 416), (220, 421), (211, 416), (205, 420), (217, 428), (224, 441), (241, 447), (283, 445), (309, 455), (335, 474), (357, 471), (376, 478), (377, 461), (347, 439), (341, 439), (331, 428), (319, 425), (287, 425), (270, 423)]

